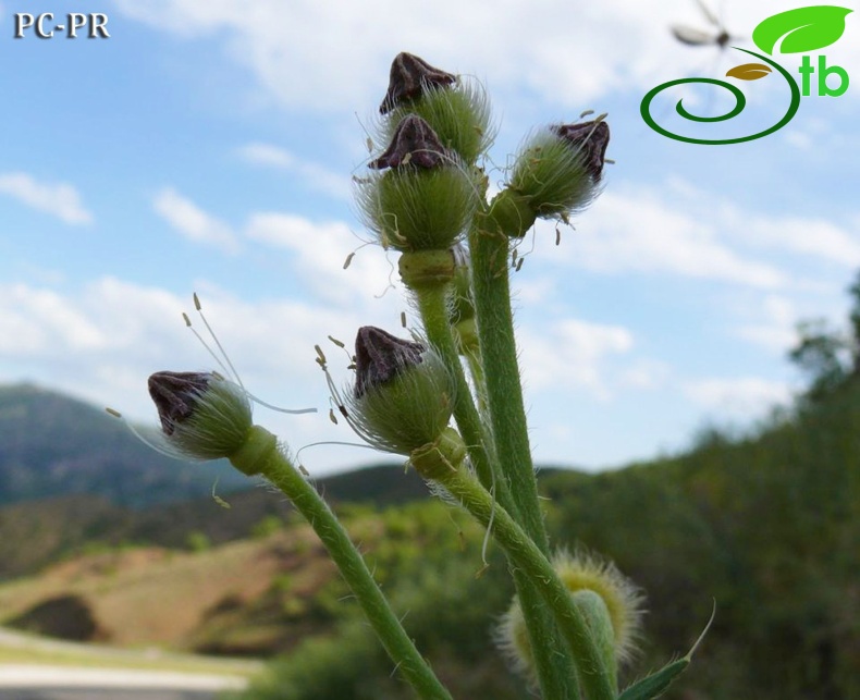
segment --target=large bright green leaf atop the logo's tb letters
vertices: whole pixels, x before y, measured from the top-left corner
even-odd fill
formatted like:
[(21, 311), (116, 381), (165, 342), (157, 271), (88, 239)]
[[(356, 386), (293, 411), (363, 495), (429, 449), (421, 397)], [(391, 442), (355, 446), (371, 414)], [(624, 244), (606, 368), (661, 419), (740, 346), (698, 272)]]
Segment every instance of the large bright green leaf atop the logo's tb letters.
[(752, 30), (752, 40), (771, 56), (779, 39), (782, 53), (816, 51), (839, 39), (845, 32), (845, 17), (851, 12), (831, 4), (788, 10), (760, 22)]

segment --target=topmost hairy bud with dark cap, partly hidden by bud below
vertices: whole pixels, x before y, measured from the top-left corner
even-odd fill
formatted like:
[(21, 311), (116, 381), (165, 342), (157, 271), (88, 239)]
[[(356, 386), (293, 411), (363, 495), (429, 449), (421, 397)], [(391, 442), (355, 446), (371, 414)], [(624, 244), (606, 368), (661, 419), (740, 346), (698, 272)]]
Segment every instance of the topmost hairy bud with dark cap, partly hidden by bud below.
[(483, 89), (409, 53), (394, 59), (380, 112), (389, 114), (382, 125), (383, 140), (391, 138), (404, 116), (417, 114), (430, 124), (445, 148), (466, 163), (475, 163), (493, 139)]

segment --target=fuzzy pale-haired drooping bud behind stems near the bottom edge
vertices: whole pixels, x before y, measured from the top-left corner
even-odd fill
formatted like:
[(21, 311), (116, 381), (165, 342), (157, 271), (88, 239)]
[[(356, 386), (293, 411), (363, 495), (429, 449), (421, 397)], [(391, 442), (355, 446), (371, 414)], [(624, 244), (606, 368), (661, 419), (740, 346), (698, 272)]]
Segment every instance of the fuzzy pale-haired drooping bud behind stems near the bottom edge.
[[(635, 654), (643, 614), (642, 594), (614, 564), (582, 552), (558, 553), (553, 567), (586, 618), (606, 671), (614, 676), (618, 664), (630, 661)], [(531, 642), (517, 598), (496, 630), (496, 643), (525, 676), (536, 680)]]

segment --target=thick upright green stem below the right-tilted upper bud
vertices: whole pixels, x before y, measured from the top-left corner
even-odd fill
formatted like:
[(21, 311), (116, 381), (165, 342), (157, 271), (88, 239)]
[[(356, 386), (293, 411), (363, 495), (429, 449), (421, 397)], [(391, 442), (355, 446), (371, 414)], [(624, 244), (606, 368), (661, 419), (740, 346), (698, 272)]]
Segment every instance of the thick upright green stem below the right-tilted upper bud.
[(502, 474), (509, 481), (519, 521), (538, 549), (548, 554), (549, 540), (538, 502), (538, 484), (531, 462), (514, 339), (507, 277), (508, 238), (493, 226), (477, 225), (469, 234), (469, 250), (475, 314), (495, 454)]

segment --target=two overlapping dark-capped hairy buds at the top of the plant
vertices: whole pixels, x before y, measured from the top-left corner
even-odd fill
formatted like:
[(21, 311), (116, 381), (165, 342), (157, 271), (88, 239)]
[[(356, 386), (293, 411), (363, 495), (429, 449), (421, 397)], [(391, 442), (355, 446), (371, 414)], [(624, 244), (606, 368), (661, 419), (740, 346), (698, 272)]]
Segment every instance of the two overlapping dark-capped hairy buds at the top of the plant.
[(487, 99), (457, 76), (401, 53), (380, 112), (388, 146), (369, 163), (380, 172), (358, 183), (364, 220), (383, 247), (445, 250), (480, 205), (482, 180), (472, 164), (491, 140)]

